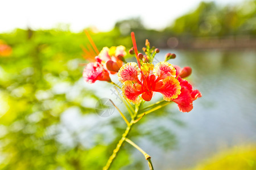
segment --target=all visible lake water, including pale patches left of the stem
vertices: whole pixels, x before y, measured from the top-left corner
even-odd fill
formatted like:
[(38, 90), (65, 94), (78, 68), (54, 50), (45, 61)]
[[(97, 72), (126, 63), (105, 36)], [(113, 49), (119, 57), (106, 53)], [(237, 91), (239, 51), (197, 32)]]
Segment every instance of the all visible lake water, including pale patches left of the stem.
[[(170, 50), (160, 50), (157, 55), (158, 61), (164, 60), (164, 55)], [(192, 75), (188, 80), (195, 89), (199, 89), (203, 97), (194, 101), (194, 108), (189, 113), (181, 113), (176, 104), (169, 105), (166, 111), (172, 114), (166, 116), (152, 116), (149, 120), (138, 127), (143, 131), (151, 128), (157, 129), (164, 126), (175, 135), (174, 147), (169, 150), (155, 145), (155, 140), (148, 138), (136, 138), (139, 144), (148, 154), (152, 156), (155, 169), (183, 169), (195, 166), (197, 163), (219, 151), (233, 146), (246, 145), (256, 142), (256, 53), (255, 51), (203, 51), (184, 52), (171, 51), (176, 58), (170, 63), (181, 67), (192, 67)], [(160, 57), (159, 57), (160, 56)], [(117, 79), (114, 78), (115, 82)], [(85, 84), (80, 80), (80, 86), (91, 89), (101, 98), (113, 98), (118, 107), (121, 107), (110, 86), (102, 82)], [(157, 100), (157, 95), (154, 100)], [(96, 101), (86, 100), (85, 105), (95, 105)], [(62, 116), (63, 124), (73, 126), (73, 129), (86, 129), (90, 133), (84, 133), (81, 140), (86, 147), (96, 145), (93, 142), (94, 134), (104, 134), (102, 140), (110, 143), (114, 138), (113, 127), (108, 126), (108, 120), (118, 117), (115, 112), (113, 116), (102, 118), (95, 113), (81, 116), (79, 111), (72, 116), (65, 112)], [(71, 113), (71, 112), (70, 112)], [(83, 117), (83, 118), (81, 118)], [(120, 118), (121, 119), (121, 118)], [(175, 120), (182, 122), (177, 125)], [(80, 123), (79, 123), (80, 122)], [(168, 139), (165, 135), (155, 137), (162, 138), (159, 142)], [(172, 145), (173, 141), (170, 141)], [(72, 143), (72, 142), (70, 142)], [(148, 169), (146, 161), (140, 152), (133, 154), (133, 160), (144, 163), (144, 169)], [(123, 169), (129, 169), (124, 167)]]

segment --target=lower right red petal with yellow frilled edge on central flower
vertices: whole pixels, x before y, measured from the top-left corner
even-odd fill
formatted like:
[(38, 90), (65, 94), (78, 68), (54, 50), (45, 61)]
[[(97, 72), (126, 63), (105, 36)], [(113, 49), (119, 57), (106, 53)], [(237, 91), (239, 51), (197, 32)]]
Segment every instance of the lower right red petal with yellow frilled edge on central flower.
[[(162, 87), (160, 87), (162, 85)], [(159, 88), (160, 87), (160, 88)], [(163, 94), (163, 99), (171, 101), (176, 99), (180, 94), (180, 83), (174, 76), (168, 76), (162, 81), (156, 83), (156, 89), (154, 91)]]

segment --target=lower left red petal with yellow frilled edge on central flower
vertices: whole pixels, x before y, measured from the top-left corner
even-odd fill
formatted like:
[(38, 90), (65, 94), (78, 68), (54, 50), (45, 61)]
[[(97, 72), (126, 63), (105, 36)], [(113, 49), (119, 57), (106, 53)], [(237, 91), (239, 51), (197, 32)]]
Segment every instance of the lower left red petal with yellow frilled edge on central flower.
[(130, 80), (126, 81), (122, 86), (123, 97), (132, 101), (134, 104), (139, 102), (139, 95), (142, 94), (141, 85), (133, 83)]

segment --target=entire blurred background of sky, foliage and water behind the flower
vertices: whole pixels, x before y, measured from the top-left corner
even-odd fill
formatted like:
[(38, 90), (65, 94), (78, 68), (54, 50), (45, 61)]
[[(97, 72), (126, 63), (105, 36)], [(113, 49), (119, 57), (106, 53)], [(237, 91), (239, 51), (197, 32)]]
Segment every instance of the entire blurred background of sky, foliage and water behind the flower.
[[(156, 62), (171, 52), (192, 67), (203, 95), (193, 110), (170, 104), (131, 131), (155, 169), (256, 169), (255, 0), (0, 4), (0, 169), (102, 169), (112, 154), (126, 124), (95, 106), (110, 98), (126, 110), (110, 84), (82, 79), (84, 29), (99, 50), (129, 50), (134, 31), (139, 49), (146, 39), (160, 49)], [(112, 169), (148, 166), (125, 144)]]

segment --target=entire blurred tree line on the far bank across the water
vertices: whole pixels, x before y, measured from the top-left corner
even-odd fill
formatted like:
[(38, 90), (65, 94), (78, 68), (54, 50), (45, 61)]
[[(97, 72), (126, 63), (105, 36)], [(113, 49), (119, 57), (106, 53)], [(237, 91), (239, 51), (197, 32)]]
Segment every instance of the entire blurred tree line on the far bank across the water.
[(141, 18), (122, 20), (115, 24), (115, 29), (119, 30), (121, 35), (129, 35), (134, 31), (139, 48), (142, 48), (140, 44), (144, 45), (145, 37), (150, 40), (151, 45), (158, 48), (172, 48), (167, 43), (170, 37), (176, 37), (181, 44), (187, 42), (188, 45), (193, 39), (202, 37), (255, 39), (256, 1), (247, 0), (226, 6), (217, 5), (215, 2), (201, 2), (195, 10), (180, 16), (162, 31), (147, 29), (142, 23)]

